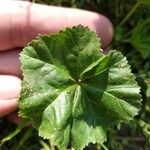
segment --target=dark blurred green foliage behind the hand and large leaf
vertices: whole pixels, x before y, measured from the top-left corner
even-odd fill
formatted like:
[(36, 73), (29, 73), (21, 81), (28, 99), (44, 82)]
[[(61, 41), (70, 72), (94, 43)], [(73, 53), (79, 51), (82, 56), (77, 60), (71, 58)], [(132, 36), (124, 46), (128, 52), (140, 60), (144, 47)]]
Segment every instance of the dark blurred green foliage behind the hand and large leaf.
[[(121, 51), (128, 59), (143, 97), (142, 110), (129, 125), (121, 124), (108, 132), (105, 146), (110, 150), (150, 149), (150, 0), (32, 0), (55, 6), (80, 8), (107, 16), (114, 26), (110, 49)], [(1, 150), (56, 150), (25, 124), (12, 125), (0, 120)], [(8, 134), (9, 133), (9, 134)], [(6, 138), (4, 138), (6, 137)], [(4, 139), (3, 139), (4, 138)], [(100, 150), (90, 144), (86, 150)]]

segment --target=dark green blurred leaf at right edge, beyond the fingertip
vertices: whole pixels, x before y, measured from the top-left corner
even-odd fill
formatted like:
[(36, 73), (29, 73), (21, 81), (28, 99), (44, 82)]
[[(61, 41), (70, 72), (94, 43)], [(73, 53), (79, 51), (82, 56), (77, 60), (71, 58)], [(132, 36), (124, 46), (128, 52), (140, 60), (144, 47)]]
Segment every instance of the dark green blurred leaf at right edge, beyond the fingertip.
[(130, 42), (142, 54), (150, 58), (150, 19), (139, 23), (133, 30)]

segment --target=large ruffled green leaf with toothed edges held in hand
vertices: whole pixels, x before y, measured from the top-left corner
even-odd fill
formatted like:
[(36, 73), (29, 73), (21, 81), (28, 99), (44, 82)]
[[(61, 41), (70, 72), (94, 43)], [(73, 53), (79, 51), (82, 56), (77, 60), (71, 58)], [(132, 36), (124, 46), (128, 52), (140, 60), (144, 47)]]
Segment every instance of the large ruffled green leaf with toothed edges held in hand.
[(40, 35), (21, 53), (20, 116), (61, 150), (104, 143), (106, 131), (137, 115), (141, 96), (126, 58), (104, 55), (81, 25)]

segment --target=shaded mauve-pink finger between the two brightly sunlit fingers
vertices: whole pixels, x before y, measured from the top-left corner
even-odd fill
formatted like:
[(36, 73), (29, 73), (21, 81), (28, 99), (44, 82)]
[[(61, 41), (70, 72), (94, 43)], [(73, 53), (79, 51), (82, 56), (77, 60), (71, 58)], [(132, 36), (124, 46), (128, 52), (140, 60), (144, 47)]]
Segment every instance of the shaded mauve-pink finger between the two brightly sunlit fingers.
[(0, 74), (11, 74), (21, 77), (19, 49), (0, 51)]

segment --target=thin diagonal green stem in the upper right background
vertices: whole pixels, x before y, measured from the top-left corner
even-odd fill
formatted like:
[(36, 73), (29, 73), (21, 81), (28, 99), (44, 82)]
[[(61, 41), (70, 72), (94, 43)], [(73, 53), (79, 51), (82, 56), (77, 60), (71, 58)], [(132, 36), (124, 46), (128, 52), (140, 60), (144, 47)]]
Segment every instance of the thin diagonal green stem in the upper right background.
[(125, 18), (119, 23), (118, 26), (122, 26), (129, 18), (130, 16), (133, 14), (133, 12), (137, 9), (137, 7), (140, 5), (139, 2), (137, 2), (132, 9), (129, 11), (129, 13), (125, 16)]

